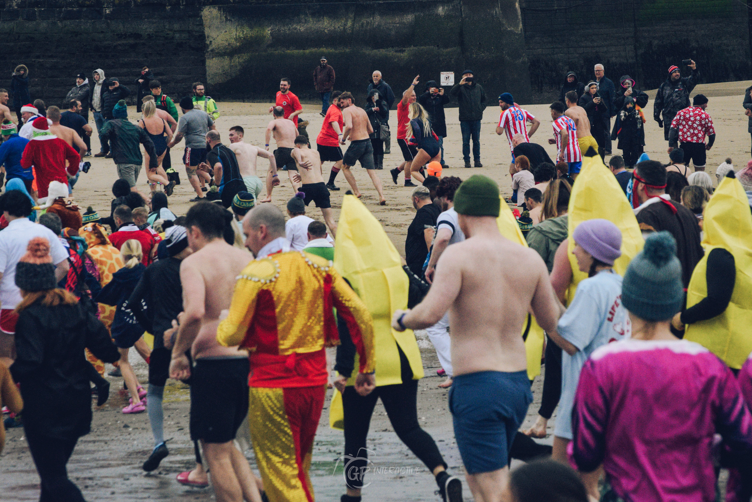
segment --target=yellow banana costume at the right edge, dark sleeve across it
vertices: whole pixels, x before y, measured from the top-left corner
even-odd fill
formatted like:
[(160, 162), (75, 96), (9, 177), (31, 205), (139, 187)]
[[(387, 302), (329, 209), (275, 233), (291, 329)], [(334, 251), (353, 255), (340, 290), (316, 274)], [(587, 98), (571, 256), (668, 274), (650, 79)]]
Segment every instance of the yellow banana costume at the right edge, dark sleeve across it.
[(726, 310), (687, 326), (684, 338), (698, 342), (738, 370), (752, 352), (752, 215), (744, 188), (736, 178), (723, 178), (705, 207), (705, 256), (692, 272), (687, 308), (708, 296), (708, 254), (724, 248), (734, 257), (736, 281)]

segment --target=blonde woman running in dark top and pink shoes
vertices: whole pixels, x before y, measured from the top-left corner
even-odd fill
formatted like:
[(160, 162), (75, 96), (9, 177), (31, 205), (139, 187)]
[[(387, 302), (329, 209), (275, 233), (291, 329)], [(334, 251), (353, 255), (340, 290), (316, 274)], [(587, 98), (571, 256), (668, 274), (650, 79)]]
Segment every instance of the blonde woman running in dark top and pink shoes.
[(120, 351), (120, 371), (123, 373), (123, 379), (131, 394), (131, 401), (123, 408), (123, 413), (142, 413), (146, 411), (146, 406), (141, 398), (146, 396), (146, 391), (138, 385), (138, 379), (128, 361), (128, 351), (144, 334), (144, 329), (138, 324), (133, 312), (126, 304), (146, 269), (141, 263), (144, 257), (141, 242), (136, 239), (127, 240), (120, 248), (120, 254), (126, 262), (125, 266), (112, 275), (112, 280), (102, 288), (102, 292), (95, 300), (117, 307), (115, 319), (112, 322), (112, 338), (117, 345), (117, 350)]

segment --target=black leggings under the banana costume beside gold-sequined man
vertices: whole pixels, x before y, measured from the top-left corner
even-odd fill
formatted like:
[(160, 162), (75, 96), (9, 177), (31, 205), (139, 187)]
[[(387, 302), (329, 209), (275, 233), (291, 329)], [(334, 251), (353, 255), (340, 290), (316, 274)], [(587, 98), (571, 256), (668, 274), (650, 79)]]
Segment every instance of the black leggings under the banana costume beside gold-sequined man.
[(344, 455), (353, 460), (345, 461), (345, 482), (347, 488), (360, 489), (363, 485), (363, 475), (368, 459), (365, 449), (365, 438), (368, 437), (368, 426), (371, 415), (376, 406), (376, 400), (381, 397), (381, 403), (387, 410), (387, 416), (392, 427), (402, 440), (402, 443), (426, 464), (429, 470), (447, 464), (438, 452), (433, 438), (418, 424), (417, 391), (418, 381), (413, 380), (413, 372), (407, 357), (399, 351), (402, 362), (402, 383), (384, 385), (374, 389), (371, 394), (363, 397), (350, 386), (342, 394), (344, 407)]

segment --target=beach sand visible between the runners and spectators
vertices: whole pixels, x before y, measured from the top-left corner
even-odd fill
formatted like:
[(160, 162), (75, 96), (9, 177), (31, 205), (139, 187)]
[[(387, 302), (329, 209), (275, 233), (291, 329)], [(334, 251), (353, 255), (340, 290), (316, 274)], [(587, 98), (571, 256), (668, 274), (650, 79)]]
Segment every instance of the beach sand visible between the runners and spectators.
[[(747, 132), (747, 117), (741, 108), (743, 93), (752, 82), (734, 82), (724, 84), (699, 85), (693, 94), (704, 93), (710, 98), (708, 113), (714, 120), (717, 139), (714, 147), (708, 152), (706, 171), (715, 181), (715, 169), (726, 157), (734, 160), (734, 165), (741, 169), (746, 166), (750, 158), (750, 135)], [(398, 89), (395, 89), (398, 93)], [(401, 95), (402, 90), (399, 90)], [(649, 93), (651, 98), (654, 92)], [(495, 104), (493, 96), (490, 102)], [(219, 108), (223, 113), (217, 120), (217, 129), (227, 141), (229, 127), (240, 125), (245, 129), (245, 140), (253, 145), (264, 145), (264, 132), (270, 116), (266, 113), (268, 104), (261, 103), (226, 103), (220, 102)], [(553, 157), (555, 148), (547, 144), (547, 138), (552, 138), (550, 126), (550, 112), (547, 105), (523, 106), (539, 120), (541, 127), (531, 140), (546, 148)], [(318, 114), (320, 106), (304, 105), (302, 117), (310, 120), (308, 133), (311, 143), (315, 142), (322, 123)], [(663, 130), (659, 129), (652, 120), (653, 104), (647, 105), (645, 151), (656, 160), (666, 162), (668, 143), (663, 140)], [(511, 194), (511, 178), (508, 165), (511, 154), (505, 136), (497, 136), (496, 123), (499, 120), (499, 108), (495, 105), (487, 108), (481, 129), (481, 161), (483, 168), (464, 169), (462, 165), (462, 139), (457, 121), (457, 108), (447, 108), (447, 134), (444, 139), (444, 160), (450, 169), (444, 171), (444, 176), (459, 176), (467, 178), (473, 174), (490, 176), (499, 183), (502, 193)], [(135, 107), (129, 107), (129, 118), (135, 120), (138, 115)], [(396, 121), (396, 111), (391, 111), (391, 123)], [(91, 123), (92, 127), (94, 126)], [(393, 126), (393, 129), (396, 129)], [(273, 143), (272, 143), (273, 145)], [(271, 148), (274, 148), (273, 146)], [(99, 151), (99, 140), (92, 138), (92, 150)], [(185, 214), (190, 208), (188, 199), (195, 196), (190, 184), (187, 183), (185, 172), (180, 166), (183, 145), (172, 149), (172, 164), (177, 167), (183, 181), (175, 187), (170, 197), (170, 208), (175, 214)], [(616, 149), (614, 154), (621, 152)], [(117, 174), (114, 163), (110, 159), (88, 159), (92, 169), (88, 174), (82, 174), (78, 181), (74, 196), (82, 206), (92, 205), (100, 216), (109, 215), (111, 186)], [(608, 158), (607, 158), (608, 161)], [(414, 216), (410, 202), (410, 188), (402, 187), (403, 178), (399, 177), (399, 185), (392, 182), (389, 169), (402, 162), (402, 155), (396, 141), (392, 144), (392, 153), (384, 157), (384, 170), (379, 172), (384, 184), (386, 206), (378, 205), (378, 195), (371, 184), (368, 175), (362, 168), (354, 167), (353, 172), (363, 193), (362, 201), (381, 221), (384, 230), (392, 239), (398, 251), (404, 256), (405, 233)], [(259, 160), (259, 173), (265, 172), (267, 163)], [(325, 179), (329, 175), (331, 163), (324, 166)], [(293, 196), (290, 181), (281, 173), (282, 187), (277, 187), (273, 193), (273, 203), (284, 211), (287, 200)], [(141, 172), (138, 187), (143, 193), (147, 192), (145, 175)], [(332, 207), (338, 216), (341, 200), (345, 190), (349, 187), (344, 176), (339, 175), (336, 181), (341, 190), (332, 192)], [(311, 205), (307, 213), (311, 218), (323, 221), (320, 211)], [(425, 333), (417, 333), (423, 366), (426, 368), (426, 378), (419, 384), (418, 417), (420, 424), (437, 441), (438, 447), (444, 455), (445, 461), (453, 473), (462, 473), (462, 461), (456, 449), (453, 437), (451, 415), (447, 409), (447, 391), (436, 388), (443, 378), (436, 376), (439, 368), (438, 360), (432, 345)], [(146, 365), (132, 351), (132, 361), (135, 363), (141, 382), (147, 381)], [(108, 366), (109, 369), (109, 366)], [(141, 464), (150, 454), (153, 441), (146, 413), (139, 415), (123, 415), (120, 409), (125, 406), (127, 397), (118, 394), (122, 388), (122, 379), (108, 377), (111, 380), (110, 401), (95, 409), (92, 423), (92, 433), (81, 438), (77, 448), (68, 463), (68, 473), (71, 479), (81, 488), (87, 500), (213, 500), (211, 488), (204, 490), (186, 488), (174, 481), (174, 477), (183, 470), (193, 467), (193, 445), (188, 434), (188, 391), (185, 386), (176, 382), (168, 382), (165, 389), (165, 438), (171, 455), (162, 461), (159, 470), (145, 474)], [(341, 431), (329, 428), (328, 406), (332, 391), (327, 393), (320, 427), (314, 445), (314, 458), (311, 466), (311, 481), (318, 500), (338, 500), (344, 493), (344, 479), (342, 478), (342, 462), (335, 469), (338, 458), (342, 454), (344, 437)], [(533, 385), (534, 402), (531, 404), (528, 418), (523, 427), (528, 427), (535, 420), (541, 397), (541, 378), (535, 379)], [(550, 421), (553, 426), (553, 421)], [(552, 427), (549, 427), (549, 434)], [(541, 443), (551, 443), (549, 436)], [(381, 403), (378, 404), (371, 419), (371, 432), (368, 437), (368, 449), (371, 454), (371, 469), (374, 473), (366, 476), (366, 482), (371, 482), (363, 491), (363, 500), (438, 500), (433, 494), (436, 489), (432, 476), (426, 467), (409, 452), (394, 434)], [(256, 470), (253, 452), (246, 452), (252, 467)], [(5, 451), (0, 456), (0, 493), (2, 500), (38, 500), (38, 476), (28, 449), (23, 439), (23, 429), (14, 428), (8, 431)], [(465, 500), (472, 500), (465, 485)]]

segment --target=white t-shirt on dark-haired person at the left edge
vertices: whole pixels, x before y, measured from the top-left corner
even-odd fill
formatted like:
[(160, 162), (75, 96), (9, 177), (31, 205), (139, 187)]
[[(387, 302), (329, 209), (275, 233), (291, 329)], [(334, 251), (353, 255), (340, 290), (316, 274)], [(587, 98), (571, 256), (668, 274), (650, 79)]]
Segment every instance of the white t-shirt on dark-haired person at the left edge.
[(35, 237), (44, 237), (50, 241), (52, 263), (57, 265), (68, 258), (68, 251), (52, 230), (29, 221), (29, 218), (17, 218), (0, 232), (0, 308), (15, 309), (21, 303), (21, 292), (16, 285), (16, 265), (26, 254), (26, 245)]

